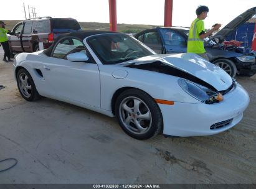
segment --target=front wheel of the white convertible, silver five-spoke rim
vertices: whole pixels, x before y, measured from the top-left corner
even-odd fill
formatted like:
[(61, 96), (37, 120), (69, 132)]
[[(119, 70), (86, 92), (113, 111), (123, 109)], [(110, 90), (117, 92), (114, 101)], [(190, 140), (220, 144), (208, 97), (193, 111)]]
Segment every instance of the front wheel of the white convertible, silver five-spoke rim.
[(123, 131), (135, 139), (149, 139), (163, 129), (158, 104), (141, 90), (130, 89), (121, 93), (116, 99), (115, 114)]

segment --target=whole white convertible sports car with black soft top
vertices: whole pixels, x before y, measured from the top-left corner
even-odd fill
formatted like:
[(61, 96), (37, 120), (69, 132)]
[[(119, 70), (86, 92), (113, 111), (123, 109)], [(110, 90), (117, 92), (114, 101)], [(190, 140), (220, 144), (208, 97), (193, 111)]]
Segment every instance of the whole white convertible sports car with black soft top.
[(156, 55), (116, 32), (61, 35), (44, 51), (17, 55), (14, 75), (27, 101), (45, 96), (116, 116), (136, 139), (217, 134), (249, 105), (247, 91), (216, 65), (192, 53)]

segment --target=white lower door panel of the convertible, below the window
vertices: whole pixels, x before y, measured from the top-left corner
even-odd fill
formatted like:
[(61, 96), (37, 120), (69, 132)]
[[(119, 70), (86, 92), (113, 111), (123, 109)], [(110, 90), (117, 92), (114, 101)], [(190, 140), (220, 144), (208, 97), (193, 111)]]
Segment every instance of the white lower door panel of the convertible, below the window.
[(100, 108), (100, 73), (95, 63), (52, 58), (43, 75), (56, 97)]

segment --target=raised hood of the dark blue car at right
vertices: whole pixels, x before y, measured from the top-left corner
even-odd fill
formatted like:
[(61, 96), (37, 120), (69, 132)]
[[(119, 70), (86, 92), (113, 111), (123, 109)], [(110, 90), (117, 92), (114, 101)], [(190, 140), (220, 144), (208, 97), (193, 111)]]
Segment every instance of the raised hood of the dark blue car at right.
[(207, 42), (214, 39), (219, 39), (219, 43), (221, 44), (224, 42), (225, 38), (231, 34), (239, 25), (244, 24), (246, 21), (248, 21), (254, 14), (256, 13), (256, 7), (252, 7), (245, 11), (244, 13), (240, 14), (239, 16), (235, 17), (235, 19), (229, 24), (225, 25), (224, 28), (219, 30), (216, 34), (214, 34)]

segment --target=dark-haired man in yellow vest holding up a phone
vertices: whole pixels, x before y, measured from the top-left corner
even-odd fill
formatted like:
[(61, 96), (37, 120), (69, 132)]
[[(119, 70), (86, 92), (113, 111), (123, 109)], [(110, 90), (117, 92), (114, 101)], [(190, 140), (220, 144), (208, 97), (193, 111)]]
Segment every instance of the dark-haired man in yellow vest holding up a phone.
[(211, 30), (205, 32), (204, 19), (207, 17), (209, 9), (207, 6), (199, 6), (196, 9), (197, 18), (192, 22), (187, 39), (187, 52), (196, 53), (202, 58), (209, 60), (204, 49), (204, 38), (208, 37), (215, 30), (220, 28), (220, 24), (215, 24)]

